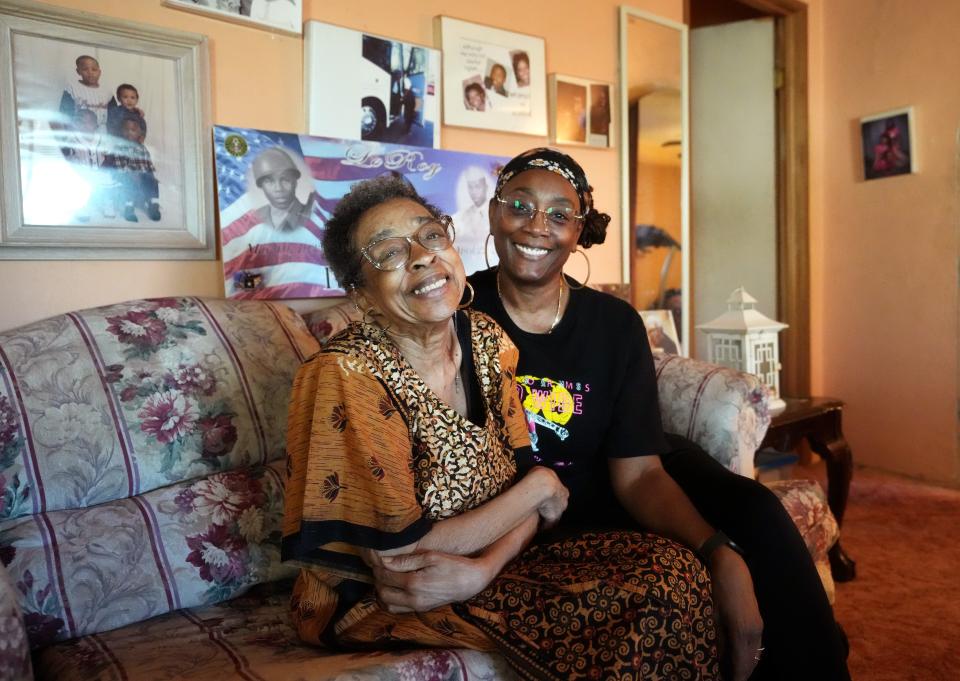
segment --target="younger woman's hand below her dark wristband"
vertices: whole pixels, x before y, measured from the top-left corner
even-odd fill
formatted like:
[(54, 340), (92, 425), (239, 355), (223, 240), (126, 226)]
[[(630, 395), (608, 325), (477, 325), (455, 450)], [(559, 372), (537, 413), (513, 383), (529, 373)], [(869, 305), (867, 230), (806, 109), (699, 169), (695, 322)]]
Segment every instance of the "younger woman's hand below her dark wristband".
[(750, 569), (735, 551), (721, 546), (710, 557), (713, 599), (726, 639), (732, 681), (745, 681), (762, 655), (763, 620)]

